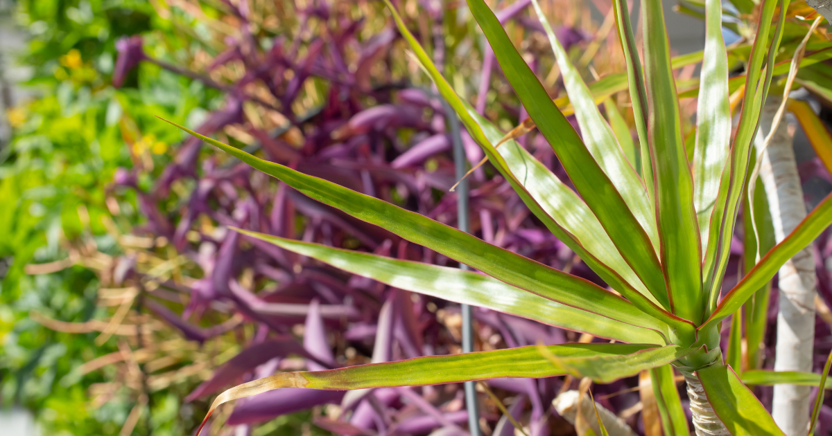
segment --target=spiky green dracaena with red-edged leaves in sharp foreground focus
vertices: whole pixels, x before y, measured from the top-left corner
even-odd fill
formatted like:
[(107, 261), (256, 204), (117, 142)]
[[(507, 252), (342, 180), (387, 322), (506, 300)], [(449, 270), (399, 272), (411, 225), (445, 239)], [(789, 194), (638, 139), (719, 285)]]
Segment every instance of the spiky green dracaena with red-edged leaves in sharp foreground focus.
[[(787, 0), (765, 0), (745, 75), (745, 96), (731, 135), (721, 4), (707, 0), (717, 25), (706, 32), (696, 151), (688, 159), (660, 0), (643, 2), (644, 66), (626, 3), (613, 2), (641, 142), (642, 174), (629, 164), (581, 76), (549, 31), (583, 138), (549, 98), (483, 0), (468, 0), (497, 60), (537, 129), (552, 146), (577, 193), (461, 100), (387, 2), (399, 32), (456, 110), (468, 133), (527, 207), (579, 255), (610, 289), (547, 267), (418, 213), (258, 159), (177, 125), (319, 202), (373, 223), (475, 268), (468, 272), (239, 230), (290, 252), (404, 290), (484, 306), (609, 344), (540, 345), (437, 355), (337, 370), (286, 372), (220, 394), (219, 405), (270, 389), (366, 389), (436, 385), (497, 377), (576, 375), (609, 382), (653, 369), (659, 392), (673, 365), (685, 376), (696, 434), (783, 434), (721, 355), (719, 326), (775, 275), (778, 267), (832, 223), (826, 198), (730, 291), (721, 292), (760, 108), (768, 93)], [(709, 24), (711, 24), (709, 22)], [(172, 123), (171, 123), (172, 124)], [(502, 144), (500, 144), (502, 143)], [(495, 146), (500, 144), (499, 147)], [(671, 374), (671, 373), (670, 373)], [(686, 434), (678, 406), (662, 404), (669, 434)], [(677, 402), (676, 402), (677, 404)], [(682, 415), (683, 416), (683, 415)], [(206, 419), (208, 417), (206, 416)], [(205, 421), (204, 421), (205, 422)], [(684, 426), (684, 429), (683, 429)]]

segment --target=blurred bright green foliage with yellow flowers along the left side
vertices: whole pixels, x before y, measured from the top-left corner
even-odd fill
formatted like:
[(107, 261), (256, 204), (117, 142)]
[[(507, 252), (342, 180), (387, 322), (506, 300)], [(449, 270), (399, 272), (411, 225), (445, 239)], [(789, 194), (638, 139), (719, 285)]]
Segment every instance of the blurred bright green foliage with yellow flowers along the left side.
[[(24, 268), (66, 258), (64, 240), (92, 239), (101, 252), (117, 254), (102, 218), (113, 218), (106, 206), (112, 175), (131, 166), (119, 129), (125, 108), (146, 138), (167, 145), (181, 136), (154, 115), (194, 123), (219, 103), (219, 95), (145, 65), (128, 76), (121, 90), (110, 85), (120, 37), (146, 35), (157, 56), (176, 57), (200, 44), (161, 20), (148, 2), (25, 0), (17, 8), (17, 21), (31, 32), (25, 55), (17, 61), (34, 69), (21, 86), (37, 97), (6, 114), (14, 131), (0, 151), (0, 399), (4, 407), (32, 409), (43, 434), (118, 434), (134, 399), (125, 391), (92, 408), (87, 387), (111, 374), (106, 369), (83, 377), (71, 372), (116, 351), (116, 341), (96, 346), (97, 333), (52, 331), (28, 317), (38, 311), (61, 321), (92, 319), (102, 310), (95, 305), (96, 274), (75, 266), (32, 276)], [(170, 159), (161, 151), (153, 157), (156, 169)], [(150, 183), (150, 178), (140, 180)], [(126, 232), (141, 224), (135, 198), (130, 193), (116, 197), (118, 228)], [(84, 215), (88, 223), (82, 222), (87, 221)], [(153, 434), (184, 434), (201, 414), (181, 404), (193, 387), (173, 385), (153, 394), (153, 418), (140, 420), (136, 434), (146, 434), (148, 424)]]

